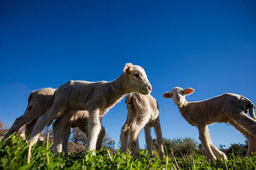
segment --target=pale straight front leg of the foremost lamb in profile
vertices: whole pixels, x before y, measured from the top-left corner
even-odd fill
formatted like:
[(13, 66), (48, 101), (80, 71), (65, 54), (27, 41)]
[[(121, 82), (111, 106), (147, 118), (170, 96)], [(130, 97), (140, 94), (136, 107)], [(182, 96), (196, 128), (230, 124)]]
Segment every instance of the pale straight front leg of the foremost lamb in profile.
[[(99, 110), (89, 111), (89, 133), (87, 146), (89, 150), (96, 150), (96, 142), (101, 129), (99, 121)], [(86, 152), (86, 150), (84, 150)], [(95, 152), (93, 152), (95, 155)]]

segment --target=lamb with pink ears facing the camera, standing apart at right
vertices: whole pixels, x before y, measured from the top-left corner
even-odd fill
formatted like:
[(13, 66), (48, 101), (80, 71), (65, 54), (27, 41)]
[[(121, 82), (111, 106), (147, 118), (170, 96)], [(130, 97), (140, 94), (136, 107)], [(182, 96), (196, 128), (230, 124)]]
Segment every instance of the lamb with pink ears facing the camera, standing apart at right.
[[(224, 156), (224, 159), (227, 159), (227, 156), (212, 144), (209, 136), (207, 125), (215, 122), (229, 122), (245, 136), (253, 136), (253, 139), (250, 137), (249, 146), (250, 151), (256, 151), (256, 146), (254, 146), (256, 138), (255, 107), (249, 99), (238, 94), (225, 93), (200, 102), (187, 102), (185, 96), (194, 91), (192, 88), (176, 87), (171, 92), (164, 93), (163, 97), (172, 98), (183, 118), (190, 125), (198, 128), (199, 140), (204, 146), (208, 160), (216, 159), (216, 156), (220, 158)], [(248, 109), (251, 118), (246, 115)], [(248, 155), (249, 153), (247, 153)]]

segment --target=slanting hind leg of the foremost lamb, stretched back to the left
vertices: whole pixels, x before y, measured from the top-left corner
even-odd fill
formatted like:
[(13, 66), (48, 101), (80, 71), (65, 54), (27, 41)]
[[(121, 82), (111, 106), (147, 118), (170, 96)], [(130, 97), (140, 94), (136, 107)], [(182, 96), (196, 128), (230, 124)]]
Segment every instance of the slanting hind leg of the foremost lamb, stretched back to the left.
[(56, 117), (56, 115), (64, 108), (65, 103), (64, 102), (58, 102), (53, 103), (52, 107), (45, 113), (44, 115), (40, 116), (38, 118), (38, 121), (35, 124), (35, 127), (32, 130), (32, 139), (30, 140), (31, 143), (30, 146), (33, 146), (39, 138), (39, 135), (42, 130), (44, 130), (44, 127), (52, 121)]

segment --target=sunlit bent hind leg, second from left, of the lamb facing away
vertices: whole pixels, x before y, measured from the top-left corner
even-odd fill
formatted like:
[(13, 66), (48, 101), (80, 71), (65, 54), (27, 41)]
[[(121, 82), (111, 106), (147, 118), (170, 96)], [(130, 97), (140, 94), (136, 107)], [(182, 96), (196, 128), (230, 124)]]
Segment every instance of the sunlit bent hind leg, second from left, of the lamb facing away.
[(140, 130), (148, 123), (148, 120), (150, 119), (150, 114), (138, 112), (138, 115), (141, 116), (140, 120), (132, 121), (130, 126), (129, 150), (131, 151), (131, 156), (133, 156), (134, 159), (137, 159), (140, 157), (140, 147), (139, 147), (139, 139), (138, 139)]

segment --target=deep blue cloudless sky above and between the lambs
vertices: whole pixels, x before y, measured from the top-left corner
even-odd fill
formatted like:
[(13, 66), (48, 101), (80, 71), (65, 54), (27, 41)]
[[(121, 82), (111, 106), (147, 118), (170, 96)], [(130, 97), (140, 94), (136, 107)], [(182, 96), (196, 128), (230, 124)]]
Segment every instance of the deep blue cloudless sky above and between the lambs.
[[(26, 110), (31, 91), (72, 80), (112, 81), (126, 62), (141, 65), (160, 105), (163, 137), (196, 127), (163, 93), (191, 87), (188, 101), (236, 93), (256, 103), (254, 1), (4, 1), (0, 6), (0, 117)], [(123, 99), (103, 118), (116, 141), (126, 119)], [(232, 126), (209, 126), (213, 143), (245, 138)], [(151, 130), (153, 138), (154, 130)], [(139, 137), (145, 144), (144, 130)]]

